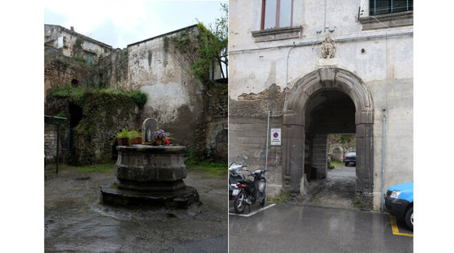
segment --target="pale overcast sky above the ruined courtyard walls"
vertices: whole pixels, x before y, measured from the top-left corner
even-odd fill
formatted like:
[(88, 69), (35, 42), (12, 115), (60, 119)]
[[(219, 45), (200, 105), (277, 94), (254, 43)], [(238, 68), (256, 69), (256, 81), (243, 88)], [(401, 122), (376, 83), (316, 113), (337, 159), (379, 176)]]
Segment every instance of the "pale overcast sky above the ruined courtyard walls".
[(221, 17), (226, 1), (46, 1), (44, 23), (124, 48), (166, 32)]

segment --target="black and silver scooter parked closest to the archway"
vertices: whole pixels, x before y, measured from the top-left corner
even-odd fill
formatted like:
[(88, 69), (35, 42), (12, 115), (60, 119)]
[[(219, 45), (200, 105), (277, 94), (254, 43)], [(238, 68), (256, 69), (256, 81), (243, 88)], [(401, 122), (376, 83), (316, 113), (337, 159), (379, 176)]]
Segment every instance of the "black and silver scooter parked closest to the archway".
[[(249, 170), (247, 170), (249, 171)], [(237, 189), (233, 190), (232, 195), (235, 197), (233, 208), (235, 212), (241, 214), (246, 209), (246, 205), (250, 206), (255, 201), (259, 201), (260, 206), (266, 203), (266, 177), (265, 173), (268, 170), (254, 170), (248, 176), (254, 177), (254, 180), (239, 179)]]

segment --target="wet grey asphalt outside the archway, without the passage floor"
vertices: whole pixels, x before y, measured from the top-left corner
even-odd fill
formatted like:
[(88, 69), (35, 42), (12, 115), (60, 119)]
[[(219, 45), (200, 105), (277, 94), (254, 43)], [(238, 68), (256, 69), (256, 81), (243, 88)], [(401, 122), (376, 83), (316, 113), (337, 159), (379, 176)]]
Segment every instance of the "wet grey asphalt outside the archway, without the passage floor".
[(235, 252), (413, 252), (393, 234), (389, 214), (278, 204), (251, 217), (230, 215)]

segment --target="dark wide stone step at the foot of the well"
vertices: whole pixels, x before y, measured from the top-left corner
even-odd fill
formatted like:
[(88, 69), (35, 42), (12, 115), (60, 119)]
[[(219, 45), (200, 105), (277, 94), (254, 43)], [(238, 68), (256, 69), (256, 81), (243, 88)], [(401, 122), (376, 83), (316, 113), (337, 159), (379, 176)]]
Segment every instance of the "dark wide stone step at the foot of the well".
[(163, 206), (166, 208), (187, 208), (199, 201), (199, 193), (191, 186), (178, 190), (140, 192), (118, 188), (114, 182), (101, 186), (102, 202), (121, 206)]

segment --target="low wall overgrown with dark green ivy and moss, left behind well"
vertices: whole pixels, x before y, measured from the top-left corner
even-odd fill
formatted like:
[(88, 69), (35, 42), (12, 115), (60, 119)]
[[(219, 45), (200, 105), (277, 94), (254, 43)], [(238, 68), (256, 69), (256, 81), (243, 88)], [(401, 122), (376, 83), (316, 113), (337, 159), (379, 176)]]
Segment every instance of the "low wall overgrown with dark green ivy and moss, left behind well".
[[(72, 129), (72, 147), (65, 154), (68, 164), (87, 165), (111, 162), (111, 139), (122, 128), (139, 129), (141, 105), (145, 94), (118, 89), (89, 89), (65, 86), (53, 89), (47, 96), (46, 113), (68, 118), (62, 131), (72, 122), (71, 108), (80, 107), (81, 118)], [(71, 106), (71, 104), (74, 104)], [(138, 110), (139, 107), (139, 110)], [(63, 134), (66, 139), (67, 135)], [(65, 146), (66, 149), (66, 146)]]

